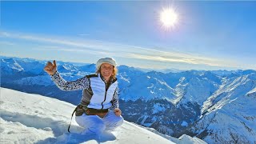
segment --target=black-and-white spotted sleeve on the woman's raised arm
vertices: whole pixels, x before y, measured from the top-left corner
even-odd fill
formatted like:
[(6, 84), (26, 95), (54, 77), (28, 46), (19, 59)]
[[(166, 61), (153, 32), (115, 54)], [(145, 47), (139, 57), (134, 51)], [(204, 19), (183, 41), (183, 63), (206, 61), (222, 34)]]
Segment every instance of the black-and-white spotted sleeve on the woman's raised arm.
[(90, 86), (90, 80), (86, 77), (79, 78), (73, 82), (67, 82), (58, 72), (56, 72), (55, 74), (51, 75), (50, 78), (61, 90), (83, 90), (88, 89)]

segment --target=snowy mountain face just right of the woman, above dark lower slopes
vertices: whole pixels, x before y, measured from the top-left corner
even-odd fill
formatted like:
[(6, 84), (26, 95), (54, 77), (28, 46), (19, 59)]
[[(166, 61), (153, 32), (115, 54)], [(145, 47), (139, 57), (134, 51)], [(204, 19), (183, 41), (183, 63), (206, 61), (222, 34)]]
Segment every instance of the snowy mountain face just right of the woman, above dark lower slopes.
[[(167, 85), (162, 78), (154, 78), (152, 74), (141, 74), (130, 79), (131, 83), (119, 85), (122, 87), (120, 98), (125, 101), (150, 101), (152, 99), (166, 99), (174, 103), (176, 96), (172, 87)], [(158, 75), (154, 75), (158, 77)], [(147, 79), (147, 80), (144, 80)], [(124, 84), (124, 83), (122, 83)]]

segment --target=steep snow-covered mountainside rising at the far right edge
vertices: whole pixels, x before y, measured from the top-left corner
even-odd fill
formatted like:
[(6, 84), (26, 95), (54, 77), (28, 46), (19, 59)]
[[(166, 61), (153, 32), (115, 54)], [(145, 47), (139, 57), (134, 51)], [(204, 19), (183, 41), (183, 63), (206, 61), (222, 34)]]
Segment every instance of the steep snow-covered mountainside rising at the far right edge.
[(255, 78), (253, 73), (225, 80), (204, 102), (202, 118), (190, 130), (206, 142), (255, 143)]

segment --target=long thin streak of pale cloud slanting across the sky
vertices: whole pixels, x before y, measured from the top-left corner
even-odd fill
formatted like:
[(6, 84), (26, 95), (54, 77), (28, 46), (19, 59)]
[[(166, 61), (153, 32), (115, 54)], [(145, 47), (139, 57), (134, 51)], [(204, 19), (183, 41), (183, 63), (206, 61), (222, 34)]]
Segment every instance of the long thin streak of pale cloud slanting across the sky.
[(38, 48), (37, 50), (60, 50), (69, 52), (82, 52), (86, 54), (106, 54), (110, 56), (118, 55), (118, 57), (121, 58), (137, 58), (154, 62), (182, 62), (193, 65), (238, 67), (234, 62), (228, 62), (226, 60), (224, 61), (216, 58), (204, 58), (195, 56), (193, 54), (154, 50), (152, 48), (145, 48), (141, 46), (127, 46), (99, 40), (83, 40), (80, 42), (76, 40), (70, 40), (70, 38), (69, 40), (66, 38), (44, 38), (30, 34), (11, 34), (7, 32), (0, 32), (0, 37), (19, 38), (36, 42), (46, 42), (55, 45), (62, 45), (44, 46)]

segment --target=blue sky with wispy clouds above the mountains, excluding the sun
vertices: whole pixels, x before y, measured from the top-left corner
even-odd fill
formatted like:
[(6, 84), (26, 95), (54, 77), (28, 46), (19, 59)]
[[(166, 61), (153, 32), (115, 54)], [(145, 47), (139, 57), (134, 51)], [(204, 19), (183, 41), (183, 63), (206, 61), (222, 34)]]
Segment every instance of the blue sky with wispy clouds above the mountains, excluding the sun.
[[(256, 70), (256, 2), (1, 1), (0, 54), (150, 69)], [(160, 14), (171, 7), (169, 30)]]

